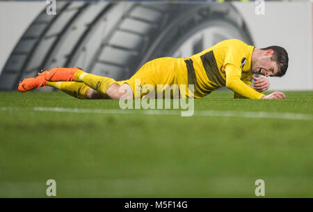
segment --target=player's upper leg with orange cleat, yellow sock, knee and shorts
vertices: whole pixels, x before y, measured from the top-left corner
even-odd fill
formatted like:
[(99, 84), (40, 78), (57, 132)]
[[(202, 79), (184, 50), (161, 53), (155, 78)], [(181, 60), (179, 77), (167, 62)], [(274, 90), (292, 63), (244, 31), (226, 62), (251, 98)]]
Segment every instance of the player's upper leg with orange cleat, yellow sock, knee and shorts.
[[(174, 82), (175, 59), (167, 57), (149, 61), (130, 79), (121, 82), (116, 82), (115, 79), (109, 77), (86, 73), (77, 67), (52, 68), (45, 75), (45, 79), (52, 82), (83, 82), (95, 91), (112, 99), (142, 98), (153, 89), (156, 89), (157, 84), (172, 84)], [(136, 84), (137, 82), (138, 84)], [(154, 91), (154, 93), (157, 92)]]

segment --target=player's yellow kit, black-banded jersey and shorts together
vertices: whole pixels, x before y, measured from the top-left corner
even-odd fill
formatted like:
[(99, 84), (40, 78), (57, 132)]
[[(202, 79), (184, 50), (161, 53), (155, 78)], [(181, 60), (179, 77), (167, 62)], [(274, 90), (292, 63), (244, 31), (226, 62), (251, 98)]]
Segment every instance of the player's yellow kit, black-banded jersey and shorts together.
[[(227, 86), (239, 96), (259, 99), (264, 94), (250, 88), (253, 50), (253, 46), (241, 40), (224, 40), (184, 59), (172, 57), (154, 59), (145, 63), (130, 79), (118, 83), (128, 83), (134, 95), (141, 93), (141, 97), (152, 90), (151, 87), (143, 89), (145, 84), (152, 85), (154, 89), (157, 89), (158, 84), (165, 85), (161, 86), (161, 89), (166, 88), (166, 85), (184, 84), (187, 88), (184, 95), (188, 98), (188, 84), (194, 84), (194, 98), (202, 98), (211, 91)], [(136, 86), (135, 79), (141, 79), (139, 86)]]

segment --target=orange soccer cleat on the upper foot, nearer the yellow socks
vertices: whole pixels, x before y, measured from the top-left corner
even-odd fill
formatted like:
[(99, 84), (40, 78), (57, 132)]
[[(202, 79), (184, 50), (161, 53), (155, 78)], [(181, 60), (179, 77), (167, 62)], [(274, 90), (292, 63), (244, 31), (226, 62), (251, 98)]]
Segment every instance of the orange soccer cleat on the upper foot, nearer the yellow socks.
[(77, 70), (82, 70), (78, 67), (72, 67), (72, 68), (52, 68), (48, 71), (48, 73), (45, 75), (45, 79), (47, 81), (51, 82), (59, 82), (59, 81), (74, 81), (74, 73), (77, 72)]

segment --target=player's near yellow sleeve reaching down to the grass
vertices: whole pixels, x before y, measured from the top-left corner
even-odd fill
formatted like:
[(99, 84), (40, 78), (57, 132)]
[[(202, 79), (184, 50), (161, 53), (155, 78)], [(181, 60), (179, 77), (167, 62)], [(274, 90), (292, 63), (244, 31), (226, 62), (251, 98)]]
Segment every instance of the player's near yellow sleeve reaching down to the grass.
[[(226, 73), (226, 87), (231, 89), (237, 95), (250, 98), (250, 99), (261, 99), (264, 94), (255, 91), (254, 89), (250, 88), (248, 84), (241, 81), (241, 69), (237, 66), (234, 66), (231, 63), (228, 63), (225, 66), (225, 73)], [(250, 82), (251, 83), (251, 82)]]

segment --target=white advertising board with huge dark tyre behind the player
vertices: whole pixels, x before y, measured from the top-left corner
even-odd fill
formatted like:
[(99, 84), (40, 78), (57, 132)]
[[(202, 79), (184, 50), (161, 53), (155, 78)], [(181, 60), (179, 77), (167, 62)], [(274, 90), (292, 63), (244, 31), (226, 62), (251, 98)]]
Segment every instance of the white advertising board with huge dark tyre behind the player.
[(312, 1), (0, 1), (0, 90), (54, 67), (127, 79), (151, 59), (230, 38), (286, 48), (289, 70), (271, 90), (312, 90), (312, 10)]

